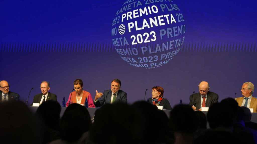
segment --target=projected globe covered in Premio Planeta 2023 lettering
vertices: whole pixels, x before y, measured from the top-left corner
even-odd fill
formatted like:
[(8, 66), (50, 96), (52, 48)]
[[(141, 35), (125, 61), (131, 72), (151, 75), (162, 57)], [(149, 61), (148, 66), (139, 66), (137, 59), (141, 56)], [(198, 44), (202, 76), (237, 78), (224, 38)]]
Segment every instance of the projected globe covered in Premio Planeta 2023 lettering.
[(171, 0), (128, 0), (116, 11), (111, 34), (121, 59), (151, 69), (179, 55), (186, 25), (182, 11)]

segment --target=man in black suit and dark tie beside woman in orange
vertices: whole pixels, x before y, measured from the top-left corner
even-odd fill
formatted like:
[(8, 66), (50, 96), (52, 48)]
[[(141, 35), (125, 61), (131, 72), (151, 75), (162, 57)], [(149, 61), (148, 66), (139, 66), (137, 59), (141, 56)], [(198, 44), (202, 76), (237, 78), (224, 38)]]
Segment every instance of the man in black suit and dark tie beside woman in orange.
[(45, 102), (47, 100), (57, 101), (57, 96), (55, 94), (48, 92), (50, 90), (49, 82), (42, 81), (40, 89), (42, 93), (34, 96), (33, 103), (42, 104), (42, 102)]

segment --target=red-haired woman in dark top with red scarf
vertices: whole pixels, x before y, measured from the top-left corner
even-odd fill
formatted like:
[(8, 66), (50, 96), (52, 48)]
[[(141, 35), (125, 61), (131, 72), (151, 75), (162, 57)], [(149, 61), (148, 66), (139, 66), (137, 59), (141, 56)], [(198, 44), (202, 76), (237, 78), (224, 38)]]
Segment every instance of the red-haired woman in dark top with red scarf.
[(155, 86), (152, 88), (152, 97), (149, 98), (147, 101), (155, 106), (162, 106), (162, 109), (171, 110), (172, 108), (168, 99), (162, 98), (163, 93), (164, 89), (162, 87)]

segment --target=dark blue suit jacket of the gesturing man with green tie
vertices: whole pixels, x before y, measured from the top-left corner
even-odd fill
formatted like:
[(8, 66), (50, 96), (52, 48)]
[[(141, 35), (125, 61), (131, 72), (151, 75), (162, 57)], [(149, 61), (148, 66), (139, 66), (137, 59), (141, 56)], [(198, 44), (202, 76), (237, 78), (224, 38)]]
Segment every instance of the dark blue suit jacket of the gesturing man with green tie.
[[(111, 99), (112, 99), (112, 90), (111, 89), (105, 90), (102, 97), (98, 98), (96, 102), (94, 100), (94, 105), (96, 107), (100, 107), (104, 104), (110, 104)], [(127, 93), (122, 90), (119, 90), (115, 101), (127, 103)]]

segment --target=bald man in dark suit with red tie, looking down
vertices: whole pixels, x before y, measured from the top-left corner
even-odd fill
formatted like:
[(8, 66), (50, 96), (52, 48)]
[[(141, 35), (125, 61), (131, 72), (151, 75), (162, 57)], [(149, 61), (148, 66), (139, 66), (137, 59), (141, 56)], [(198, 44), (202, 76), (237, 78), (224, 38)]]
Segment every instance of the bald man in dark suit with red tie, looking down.
[(201, 110), (202, 107), (210, 107), (213, 103), (218, 102), (219, 96), (209, 91), (210, 87), (206, 81), (202, 81), (198, 86), (199, 92), (189, 98), (189, 105), (194, 110)]

